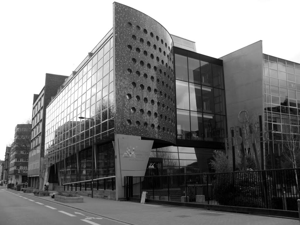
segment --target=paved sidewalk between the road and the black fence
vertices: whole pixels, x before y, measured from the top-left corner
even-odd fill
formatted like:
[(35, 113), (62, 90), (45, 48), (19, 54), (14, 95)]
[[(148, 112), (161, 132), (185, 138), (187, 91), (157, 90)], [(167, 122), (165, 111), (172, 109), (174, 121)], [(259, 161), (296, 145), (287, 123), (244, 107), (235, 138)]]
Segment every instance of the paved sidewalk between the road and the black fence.
[[(49, 202), (55, 202), (60, 205), (66, 205), (77, 210), (93, 213), (100, 217), (106, 217), (132, 225), (299, 225), (299, 220), (289, 218), (227, 213), (169, 205), (140, 204), (138, 202), (120, 202), (86, 196), (83, 196), (83, 202), (81, 203), (62, 203), (54, 201), (50, 196), (38, 197), (34, 196), (33, 193), (23, 193), (10, 189), (9, 191), (29, 195)], [(53, 192), (55, 193), (55, 191)]]

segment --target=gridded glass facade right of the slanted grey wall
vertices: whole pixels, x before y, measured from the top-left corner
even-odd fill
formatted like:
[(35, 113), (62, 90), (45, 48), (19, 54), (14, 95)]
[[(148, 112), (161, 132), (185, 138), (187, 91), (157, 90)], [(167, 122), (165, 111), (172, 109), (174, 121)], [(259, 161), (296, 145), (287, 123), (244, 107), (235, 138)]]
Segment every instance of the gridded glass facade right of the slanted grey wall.
[(281, 132), (300, 125), (300, 64), (264, 54), (263, 65), (265, 130), (274, 130), (276, 140), (265, 148), (277, 154), (283, 147)]

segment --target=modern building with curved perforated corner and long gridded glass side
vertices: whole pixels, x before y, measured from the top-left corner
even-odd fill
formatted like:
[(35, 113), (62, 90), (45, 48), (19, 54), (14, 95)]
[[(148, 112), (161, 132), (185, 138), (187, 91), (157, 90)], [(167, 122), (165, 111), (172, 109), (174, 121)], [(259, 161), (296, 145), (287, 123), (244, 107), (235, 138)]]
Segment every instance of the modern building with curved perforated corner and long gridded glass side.
[[(142, 161), (126, 171), (209, 172), (227, 131), (222, 60), (196, 53), (193, 42), (125, 5), (114, 3), (113, 19), (46, 108), (46, 181), (91, 179), (94, 132), (94, 178), (121, 182), (128, 162)], [(135, 158), (127, 164), (126, 149)]]

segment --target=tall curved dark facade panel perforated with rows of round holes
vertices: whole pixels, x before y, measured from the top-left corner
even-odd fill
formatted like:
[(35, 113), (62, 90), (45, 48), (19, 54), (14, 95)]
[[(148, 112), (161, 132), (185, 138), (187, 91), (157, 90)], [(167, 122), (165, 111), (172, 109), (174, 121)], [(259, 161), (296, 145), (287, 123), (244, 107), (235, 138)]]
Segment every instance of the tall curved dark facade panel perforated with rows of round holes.
[(151, 17), (114, 3), (115, 132), (175, 143), (173, 40)]

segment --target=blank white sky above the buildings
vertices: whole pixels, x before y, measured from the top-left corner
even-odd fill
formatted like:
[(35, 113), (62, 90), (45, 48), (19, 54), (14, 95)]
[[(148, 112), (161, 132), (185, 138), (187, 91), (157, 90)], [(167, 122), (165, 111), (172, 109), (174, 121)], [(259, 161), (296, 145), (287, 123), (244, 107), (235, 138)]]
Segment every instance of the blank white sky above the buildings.
[[(300, 1), (119, 0), (219, 58), (262, 40), (263, 52), (300, 63)], [(113, 1), (2, 1), (0, 159), (32, 116), (45, 73), (69, 76), (113, 27)]]

